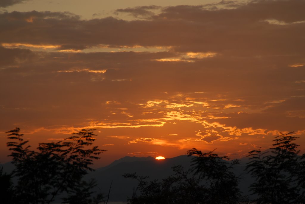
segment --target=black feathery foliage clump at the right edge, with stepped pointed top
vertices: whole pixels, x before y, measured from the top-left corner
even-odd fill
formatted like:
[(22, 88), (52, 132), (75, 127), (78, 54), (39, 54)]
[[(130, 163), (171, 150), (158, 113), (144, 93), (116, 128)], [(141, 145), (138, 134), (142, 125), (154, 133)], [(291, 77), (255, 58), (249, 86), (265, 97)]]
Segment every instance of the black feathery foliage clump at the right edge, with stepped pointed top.
[(256, 202), (259, 204), (302, 202), (300, 191), (304, 176), (301, 171), (304, 168), (301, 166), (304, 162), (302, 157), (297, 155), (299, 145), (293, 143), (297, 137), (291, 136), (292, 133), (277, 136), (273, 140), (274, 148), (271, 148), (271, 151), (249, 152), (251, 161), (247, 163), (246, 170), (256, 179), (251, 184), (250, 191), (257, 195)]

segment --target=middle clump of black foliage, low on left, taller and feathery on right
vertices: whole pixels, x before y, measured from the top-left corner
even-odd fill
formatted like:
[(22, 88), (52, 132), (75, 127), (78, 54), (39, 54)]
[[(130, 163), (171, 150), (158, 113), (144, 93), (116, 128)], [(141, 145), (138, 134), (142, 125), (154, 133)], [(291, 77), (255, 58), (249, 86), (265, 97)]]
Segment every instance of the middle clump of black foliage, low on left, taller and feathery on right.
[(138, 180), (137, 192), (130, 204), (236, 204), (240, 201), (238, 178), (231, 172), (232, 165), (213, 152), (202, 153), (197, 149), (188, 151), (193, 158), (193, 167), (184, 170), (180, 165), (172, 169), (174, 174), (161, 181), (146, 181), (148, 177), (124, 174), (125, 178)]

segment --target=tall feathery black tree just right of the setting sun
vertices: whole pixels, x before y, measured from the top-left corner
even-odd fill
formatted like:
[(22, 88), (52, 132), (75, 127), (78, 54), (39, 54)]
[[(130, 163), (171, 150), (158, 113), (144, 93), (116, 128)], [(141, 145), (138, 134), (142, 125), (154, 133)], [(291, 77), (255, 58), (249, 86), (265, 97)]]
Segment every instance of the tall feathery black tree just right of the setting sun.
[(241, 198), (238, 188), (239, 178), (232, 172), (233, 165), (239, 163), (237, 159), (228, 162), (230, 159), (226, 156), (220, 157), (213, 151), (203, 153), (196, 148), (188, 150), (187, 154), (196, 156), (192, 159), (192, 170), (205, 182), (204, 203), (235, 204), (239, 202)]

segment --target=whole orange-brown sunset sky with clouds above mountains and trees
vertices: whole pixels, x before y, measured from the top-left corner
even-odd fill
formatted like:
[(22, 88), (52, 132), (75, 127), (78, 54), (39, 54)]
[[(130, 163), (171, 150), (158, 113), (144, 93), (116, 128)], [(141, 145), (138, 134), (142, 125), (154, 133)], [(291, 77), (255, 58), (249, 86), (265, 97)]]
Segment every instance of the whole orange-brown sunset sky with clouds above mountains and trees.
[(96, 129), (124, 156), (230, 158), (294, 131), (305, 153), (305, 1), (1, 0), (0, 162)]

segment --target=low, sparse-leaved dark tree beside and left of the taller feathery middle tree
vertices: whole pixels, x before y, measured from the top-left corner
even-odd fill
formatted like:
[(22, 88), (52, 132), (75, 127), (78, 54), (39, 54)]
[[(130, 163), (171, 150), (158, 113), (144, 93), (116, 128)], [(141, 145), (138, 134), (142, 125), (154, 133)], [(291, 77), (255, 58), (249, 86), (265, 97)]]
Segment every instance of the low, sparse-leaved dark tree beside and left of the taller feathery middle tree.
[[(193, 204), (201, 200), (196, 194), (198, 178), (192, 178), (190, 171), (184, 171), (178, 165), (172, 167), (174, 174), (159, 180), (147, 181), (149, 177), (138, 176), (136, 173), (124, 174), (125, 178), (132, 178), (139, 182), (129, 204)], [(195, 190), (195, 191), (194, 191)], [(139, 195), (138, 195), (139, 193)]]

